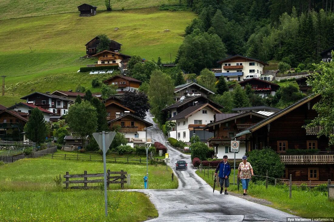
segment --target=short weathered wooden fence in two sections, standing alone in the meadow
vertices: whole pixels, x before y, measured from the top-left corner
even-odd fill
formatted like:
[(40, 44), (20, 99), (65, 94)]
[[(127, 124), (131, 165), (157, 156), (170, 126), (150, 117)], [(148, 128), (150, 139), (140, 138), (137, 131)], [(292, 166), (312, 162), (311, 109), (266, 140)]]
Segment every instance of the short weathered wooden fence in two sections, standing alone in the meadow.
[[(113, 176), (117, 175), (117, 176)], [(90, 189), (90, 188), (97, 188), (98, 186), (88, 186), (88, 183), (104, 183), (104, 179), (93, 179), (89, 180), (88, 178), (92, 177), (104, 177), (104, 174), (87, 174), (87, 171), (85, 170), (83, 174), (73, 174), (70, 175), (69, 172), (66, 172), (66, 175), (64, 175), (64, 178), (66, 181), (63, 183), (66, 184), (66, 189)], [(72, 178), (83, 178), (83, 180), (69, 180)], [(108, 169), (107, 171), (107, 188), (109, 189), (110, 184), (121, 184), (121, 189), (124, 189), (124, 184), (127, 183), (125, 180), (127, 179), (127, 172), (124, 172), (121, 170), (120, 172), (110, 171)], [(83, 184), (83, 186), (73, 186), (69, 187), (69, 184)]]

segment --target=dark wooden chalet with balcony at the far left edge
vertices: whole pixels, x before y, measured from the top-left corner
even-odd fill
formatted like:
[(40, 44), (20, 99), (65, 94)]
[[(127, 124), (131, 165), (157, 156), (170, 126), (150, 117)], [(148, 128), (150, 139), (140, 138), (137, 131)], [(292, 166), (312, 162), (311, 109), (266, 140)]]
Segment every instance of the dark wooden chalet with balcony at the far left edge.
[(4, 109), (0, 111), (0, 140), (24, 141), (24, 125), (28, 122), (28, 113)]

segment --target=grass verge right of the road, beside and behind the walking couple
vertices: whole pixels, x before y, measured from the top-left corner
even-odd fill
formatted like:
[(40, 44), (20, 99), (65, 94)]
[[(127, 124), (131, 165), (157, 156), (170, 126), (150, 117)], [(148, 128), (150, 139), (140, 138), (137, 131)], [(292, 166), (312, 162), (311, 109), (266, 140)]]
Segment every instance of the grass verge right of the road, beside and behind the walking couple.
[[(207, 171), (206, 171), (207, 172)], [(214, 170), (209, 170), (209, 173), (214, 173)], [(213, 187), (213, 180), (211, 175), (207, 177), (207, 173), (196, 174), (204, 179), (211, 187)], [(230, 183), (233, 181), (233, 173), (230, 174)], [(216, 190), (220, 187), (216, 186)], [(243, 193), (242, 185), (239, 188), (240, 195)], [(236, 185), (230, 185), (229, 191), (237, 192)], [(273, 203), (270, 207), (291, 213), (300, 217), (334, 217), (334, 202), (328, 201), (327, 193), (319, 191), (304, 191), (301, 189), (292, 190), (292, 198), (289, 198), (289, 189), (287, 186), (272, 186), (269, 185), (268, 189), (264, 185), (256, 185), (250, 183), (248, 190), (248, 195), (256, 198), (266, 199)]]

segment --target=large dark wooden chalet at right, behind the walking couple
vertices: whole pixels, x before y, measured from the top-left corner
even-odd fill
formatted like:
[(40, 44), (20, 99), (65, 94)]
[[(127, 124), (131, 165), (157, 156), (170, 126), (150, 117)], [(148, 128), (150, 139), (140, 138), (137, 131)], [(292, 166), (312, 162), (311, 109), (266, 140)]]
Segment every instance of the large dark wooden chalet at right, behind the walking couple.
[(234, 137), (245, 137), (248, 151), (270, 147), (277, 152), (286, 166), (283, 175), (285, 179), (291, 174), (292, 181), (296, 183), (333, 181), (333, 146), (328, 145), (326, 136), (317, 137), (321, 126), (303, 127), (318, 116), (312, 107), (319, 100), (320, 95), (305, 97)]

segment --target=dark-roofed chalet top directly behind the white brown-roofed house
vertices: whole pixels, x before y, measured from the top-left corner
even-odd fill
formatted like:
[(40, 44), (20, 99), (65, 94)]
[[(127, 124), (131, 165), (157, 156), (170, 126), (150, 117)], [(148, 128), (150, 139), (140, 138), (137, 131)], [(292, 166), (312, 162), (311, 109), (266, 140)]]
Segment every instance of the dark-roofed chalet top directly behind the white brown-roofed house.
[(184, 109), (186, 109), (190, 106), (194, 106), (196, 104), (197, 105), (205, 104), (205, 103), (209, 103), (210, 105), (212, 105), (216, 109), (224, 108), (222, 105), (219, 105), (218, 103), (215, 103), (211, 99), (209, 99), (209, 98), (207, 98), (203, 95), (198, 95), (198, 96), (191, 96), (189, 98), (185, 98), (183, 100), (180, 100), (180, 101), (162, 109), (161, 111), (164, 112), (168, 118), (172, 118), (172, 117), (176, 116), (178, 113), (180, 113), (181, 111), (183, 111)]

